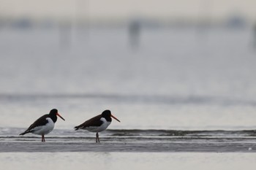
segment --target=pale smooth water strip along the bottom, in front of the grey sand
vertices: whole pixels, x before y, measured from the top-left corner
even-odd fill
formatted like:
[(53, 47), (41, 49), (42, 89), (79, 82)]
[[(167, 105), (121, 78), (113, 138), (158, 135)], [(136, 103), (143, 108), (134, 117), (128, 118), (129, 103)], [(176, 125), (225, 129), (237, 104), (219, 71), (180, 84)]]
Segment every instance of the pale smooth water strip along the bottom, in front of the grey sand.
[(254, 169), (255, 153), (8, 152), (2, 169)]

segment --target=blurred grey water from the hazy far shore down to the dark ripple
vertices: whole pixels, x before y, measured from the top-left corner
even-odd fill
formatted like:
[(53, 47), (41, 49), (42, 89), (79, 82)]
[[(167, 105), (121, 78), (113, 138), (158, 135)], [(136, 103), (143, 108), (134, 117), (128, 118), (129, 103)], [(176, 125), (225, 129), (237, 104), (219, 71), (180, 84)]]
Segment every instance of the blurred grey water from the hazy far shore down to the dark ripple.
[(116, 129), (256, 129), (251, 28), (143, 28), (133, 50), (125, 27), (74, 28), (67, 47), (60, 31), (1, 29), (0, 127), (57, 108), (62, 129), (104, 109)]

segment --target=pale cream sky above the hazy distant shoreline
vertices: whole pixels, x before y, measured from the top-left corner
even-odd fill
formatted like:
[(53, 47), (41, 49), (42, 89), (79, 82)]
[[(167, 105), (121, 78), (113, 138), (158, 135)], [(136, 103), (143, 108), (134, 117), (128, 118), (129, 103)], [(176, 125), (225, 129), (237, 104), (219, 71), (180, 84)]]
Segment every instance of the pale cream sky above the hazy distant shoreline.
[(255, 0), (0, 0), (0, 18), (126, 20), (129, 18), (223, 20), (242, 15), (256, 22)]

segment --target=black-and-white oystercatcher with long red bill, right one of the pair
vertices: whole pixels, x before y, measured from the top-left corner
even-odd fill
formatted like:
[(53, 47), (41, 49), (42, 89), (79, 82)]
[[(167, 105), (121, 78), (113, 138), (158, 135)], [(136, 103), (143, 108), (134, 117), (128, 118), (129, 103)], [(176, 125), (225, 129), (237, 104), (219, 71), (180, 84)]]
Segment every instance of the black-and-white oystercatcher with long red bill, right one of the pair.
[(78, 129), (83, 129), (91, 132), (96, 132), (96, 142), (99, 142), (99, 132), (105, 131), (106, 128), (108, 128), (108, 125), (110, 125), (112, 121), (111, 117), (120, 122), (120, 120), (113, 116), (110, 110), (107, 109), (103, 111), (101, 115), (92, 117), (91, 119), (86, 120), (84, 123), (75, 126), (75, 131), (77, 131)]

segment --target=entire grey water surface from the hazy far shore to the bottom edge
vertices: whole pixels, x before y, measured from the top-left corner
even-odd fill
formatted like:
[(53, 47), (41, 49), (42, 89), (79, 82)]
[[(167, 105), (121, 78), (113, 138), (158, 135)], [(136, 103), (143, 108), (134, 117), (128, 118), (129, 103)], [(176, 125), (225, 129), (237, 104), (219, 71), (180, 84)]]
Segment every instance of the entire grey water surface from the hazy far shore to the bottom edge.
[[(69, 32), (70, 31), (70, 32)], [(2, 169), (253, 169), (250, 28), (1, 28)], [(50, 109), (66, 121), (18, 136)], [(110, 109), (110, 130), (73, 127)]]

